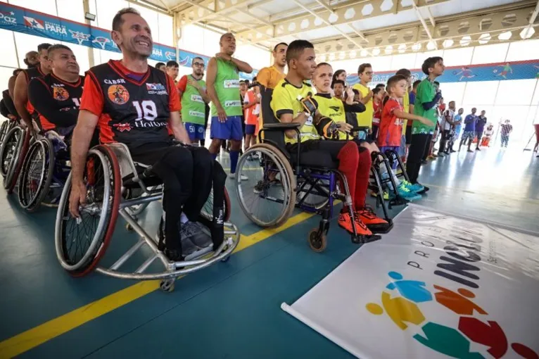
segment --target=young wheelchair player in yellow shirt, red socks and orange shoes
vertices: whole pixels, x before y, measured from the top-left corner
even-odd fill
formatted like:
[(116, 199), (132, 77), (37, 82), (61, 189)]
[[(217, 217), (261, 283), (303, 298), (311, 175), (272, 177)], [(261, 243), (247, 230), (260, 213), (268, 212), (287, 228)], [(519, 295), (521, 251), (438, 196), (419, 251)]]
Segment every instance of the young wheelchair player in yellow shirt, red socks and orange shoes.
[[(332, 141), (323, 139), (333, 137), (336, 131), (349, 132), (350, 126), (336, 125), (331, 119), (319, 113), (318, 103), (312, 98), (312, 87), (305, 83), (315, 73), (315, 50), (310, 42), (296, 40), (288, 45), (286, 51), (288, 74), (275, 87), (272, 94), (271, 108), (280, 122), (296, 122), (300, 125), (300, 157), (312, 158), (321, 167), (324, 163), (337, 162), (338, 170), (348, 182), (349, 194), (353, 201), (352, 208), (345, 206), (338, 218), (338, 225), (348, 232), (355, 232), (361, 237), (371, 237), (371, 230), (364, 221), (385, 222), (374, 213), (365, 210), (365, 196), (369, 183), (372, 164), (367, 149), (353, 141)], [(286, 149), (296, 153), (298, 139), (295, 130), (285, 132)], [(310, 160), (309, 162), (312, 162)], [(343, 187), (341, 186), (341, 190)]]

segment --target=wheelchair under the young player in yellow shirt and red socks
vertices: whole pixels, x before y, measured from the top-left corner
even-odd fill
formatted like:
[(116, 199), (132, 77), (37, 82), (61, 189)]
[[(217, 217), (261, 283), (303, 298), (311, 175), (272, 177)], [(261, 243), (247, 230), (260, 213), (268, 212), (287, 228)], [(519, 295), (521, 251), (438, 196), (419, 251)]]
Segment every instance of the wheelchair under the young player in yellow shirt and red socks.
[[(335, 201), (340, 200), (348, 205), (351, 217), (355, 216), (351, 210), (352, 199), (348, 182), (337, 170), (338, 163), (320, 163), (319, 158), (313, 158), (310, 153), (301, 153), (299, 142), (296, 153), (286, 150), (284, 132), (294, 130), (299, 138), (299, 124), (279, 122), (270, 108), (272, 89), (260, 86), (260, 93), (263, 126), (258, 133), (259, 143), (243, 153), (236, 168), (236, 191), (241, 210), (251, 222), (260, 227), (283, 225), (294, 208), (321, 215), (319, 226), (310, 230), (307, 241), (313, 251), (322, 252), (327, 246), (326, 235), (333, 217)], [(253, 167), (251, 158), (255, 153), (258, 153), (259, 159)], [(241, 175), (253, 177), (253, 172), (258, 172), (262, 178), (241, 180)], [(376, 172), (374, 176), (378, 178)], [(381, 187), (381, 184), (379, 186)], [(251, 206), (255, 202), (255, 206)], [(261, 209), (273, 209), (275, 214), (260, 215)], [(391, 225), (379, 233), (388, 232)], [(351, 239), (355, 244), (381, 239), (378, 234), (364, 237), (353, 229)]]

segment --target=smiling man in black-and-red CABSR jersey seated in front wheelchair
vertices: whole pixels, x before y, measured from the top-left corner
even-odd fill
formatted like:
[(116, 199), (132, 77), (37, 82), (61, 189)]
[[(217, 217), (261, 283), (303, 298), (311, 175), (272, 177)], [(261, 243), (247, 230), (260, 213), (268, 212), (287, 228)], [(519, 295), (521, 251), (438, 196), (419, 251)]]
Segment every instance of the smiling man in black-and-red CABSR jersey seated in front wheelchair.
[[(222, 172), (223, 187), (226, 175), (207, 149), (184, 145), (190, 141), (179, 115), (174, 82), (148, 65), (153, 40), (146, 20), (133, 8), (125, 8), (115, 15), (112, 27), (111, 37), (123, 57), (91, 68), (84, 80), (71, 147), (70, 213), (78, 218), (79, 206), (86, 202), (84, 165), (91, 134), (99, 126), (102, 144), (125, 144), (135, 162), (148, 166), (144, 174), (151, 172), (163, 181), (160, 244), (165, 244), (170, 260), (183, 260), (187, 245), (211, 244), (196, 221), (215, 173)], [(169, 126), (175, 139), (169, 135)]]

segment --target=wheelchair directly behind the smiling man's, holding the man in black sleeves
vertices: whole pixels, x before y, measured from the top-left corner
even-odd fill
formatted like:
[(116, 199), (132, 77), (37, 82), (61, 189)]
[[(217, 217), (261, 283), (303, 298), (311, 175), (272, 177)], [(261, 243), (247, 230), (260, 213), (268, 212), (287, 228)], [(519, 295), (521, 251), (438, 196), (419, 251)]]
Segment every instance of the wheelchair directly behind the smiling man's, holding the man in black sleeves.
[(18, 180), (18, 200), (28, 212), (58, 205), (71, 170), (68, 145), (58, 133), (48, 131), (30, 144)]

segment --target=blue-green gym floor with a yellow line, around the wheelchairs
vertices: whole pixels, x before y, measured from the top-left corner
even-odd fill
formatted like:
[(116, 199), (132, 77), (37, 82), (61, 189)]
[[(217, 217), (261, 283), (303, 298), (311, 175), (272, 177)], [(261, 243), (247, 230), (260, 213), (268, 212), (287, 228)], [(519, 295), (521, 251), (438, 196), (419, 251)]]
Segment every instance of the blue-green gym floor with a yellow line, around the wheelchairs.
[[(538, 172), (530, 152), (463, 149), (421, 169), (431, 190), (417, 203), (539, 232)], [(227, 263), (177, 280), (172, 293), (158, 282), (70, 277), (56, 260), (56, 211), (27, 214), (3, 192), (0, 358), (351, 358), (280, 305), (305, 294), (357, 246), (333, 221), (326, 251), (314, 253), (306, 236), (318, 218), (305, 213), (279, 229), (255, 227), (237, 205), (232, 180), (227, 185), (239, 250)], [(144, 218), (151, 234), (156, 206)], [(123, 220), (116, 228), (105, 263), (137, 239)]]

